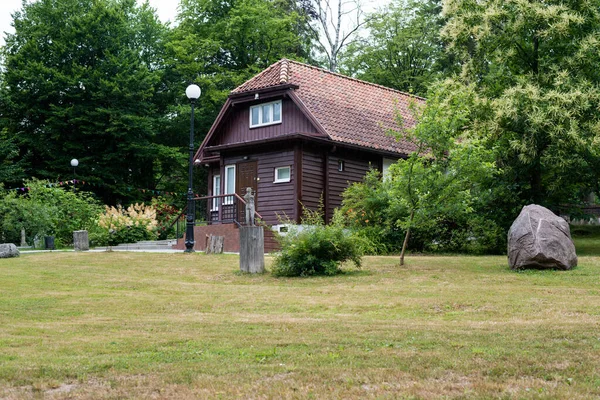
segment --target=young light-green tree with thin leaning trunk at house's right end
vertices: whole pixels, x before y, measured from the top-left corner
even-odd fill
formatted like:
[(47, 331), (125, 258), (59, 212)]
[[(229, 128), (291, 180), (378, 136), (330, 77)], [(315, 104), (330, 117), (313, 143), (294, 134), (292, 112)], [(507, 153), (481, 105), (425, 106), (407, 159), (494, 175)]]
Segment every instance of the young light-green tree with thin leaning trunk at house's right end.
[[(415, 145), (407, 159), (390, 167), (391, 207), (406, 210), (406, 216), (397, 221), (405, 230), (400, 265), (404, 265), (414, 227), (426, 227), (442, 215), (450, 219), (468, 217), (474, 211), (479, 184), (493, 174), (490, 153), (469, 136), (474, 93), (456, 89), (451, 81), (437, 85), (427, 106), (413, 110), (416, 127), (395, 132)], [(449, 101), (448, 92), (456, 94)], [(402, 128), (401, 118), (399, 115)]]

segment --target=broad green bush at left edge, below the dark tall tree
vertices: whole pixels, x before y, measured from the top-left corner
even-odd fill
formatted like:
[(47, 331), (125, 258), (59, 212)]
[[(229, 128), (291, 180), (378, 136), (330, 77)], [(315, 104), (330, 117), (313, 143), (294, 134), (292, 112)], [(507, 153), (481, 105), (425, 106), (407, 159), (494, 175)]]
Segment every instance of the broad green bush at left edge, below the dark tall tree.
[(73, 231), (95, 229), (102, 208), (90, 193), (74, 193), (36, 179), (24, 184), (26, 193), (11, 190), (0, 199), (2, 241), (20, 243), (21, 229), (25, 229), (29, 245), (36, 236), (45, 235), (66, 245), (73, 242)]

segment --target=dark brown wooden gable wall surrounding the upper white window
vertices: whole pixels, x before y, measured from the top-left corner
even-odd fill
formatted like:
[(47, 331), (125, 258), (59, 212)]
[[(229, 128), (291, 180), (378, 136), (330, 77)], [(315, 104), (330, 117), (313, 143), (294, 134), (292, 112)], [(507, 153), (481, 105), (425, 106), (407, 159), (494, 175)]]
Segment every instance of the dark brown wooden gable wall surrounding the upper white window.
[[(265, 103), (274, 99), (266, 99)], [(280, 124), (250, 129), (250, 106), (260, 104), (253, 102), (240, 104), (233, 107), (229, 116), (223, 121), (221, 132), (216, 132), (215, 142), (211, 146), (241, 143), (253, 140), (269, 139), (280, 135), (292, 133), (316, 133), (312, 123), (302, 114), (296, 105), (289, 99), (282, 101), (282, 119)]]

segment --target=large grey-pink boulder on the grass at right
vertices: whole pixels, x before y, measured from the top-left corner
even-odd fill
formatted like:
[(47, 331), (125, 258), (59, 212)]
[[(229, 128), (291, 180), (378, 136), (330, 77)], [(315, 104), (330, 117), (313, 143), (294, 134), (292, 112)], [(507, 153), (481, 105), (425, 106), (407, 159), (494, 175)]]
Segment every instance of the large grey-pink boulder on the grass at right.
[(577, 254), (567, 221), (536, 204), (523, 207), (508, 231), (508, 265), (512, 269), (575, 267)]

